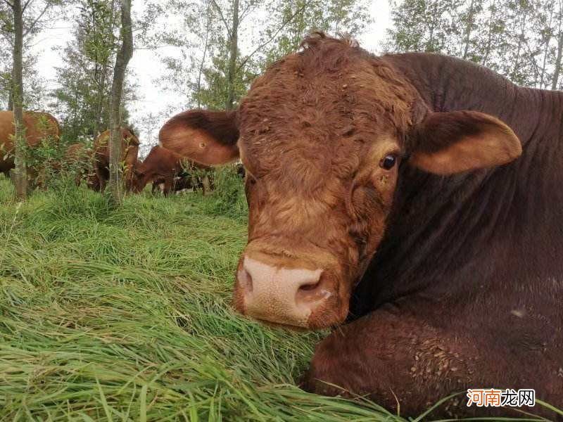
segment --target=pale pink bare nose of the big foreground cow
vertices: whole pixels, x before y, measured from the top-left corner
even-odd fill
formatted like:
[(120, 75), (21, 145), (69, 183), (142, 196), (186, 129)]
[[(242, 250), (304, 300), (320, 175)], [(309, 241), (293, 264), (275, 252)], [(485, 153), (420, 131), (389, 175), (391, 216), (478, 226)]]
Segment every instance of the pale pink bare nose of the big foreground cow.
[(312, 312), (333, 295), (324, 286), (322, 272), (272, 267), (244, 257), (236, 286), (241, 310), (256, 319), (307, 327)]

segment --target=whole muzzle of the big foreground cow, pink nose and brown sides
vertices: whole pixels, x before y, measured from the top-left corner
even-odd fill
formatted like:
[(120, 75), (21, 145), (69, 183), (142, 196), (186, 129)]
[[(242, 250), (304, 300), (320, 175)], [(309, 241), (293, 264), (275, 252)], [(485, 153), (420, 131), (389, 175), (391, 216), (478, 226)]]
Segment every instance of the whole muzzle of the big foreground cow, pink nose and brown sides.
[(333, 271), (299, 267), (243, 255), (234, 305), (253, 319), (283, 326), (325, 328), (346, 318)]

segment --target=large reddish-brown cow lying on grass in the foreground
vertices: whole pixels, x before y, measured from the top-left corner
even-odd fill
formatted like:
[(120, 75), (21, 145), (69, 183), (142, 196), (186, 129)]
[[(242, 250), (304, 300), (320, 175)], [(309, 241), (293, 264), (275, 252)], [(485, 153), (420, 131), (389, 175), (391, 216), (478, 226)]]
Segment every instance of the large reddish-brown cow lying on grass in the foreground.
[[(562, 92), (319, 35), (238, 110), (181, 113), (160, 142), (246, 167), (236, 309), (305, 328), (348, 317), (307, 390), (413, 416), (467, 388), (563, 407)], [(433, 416), (516, 415), (466, 402)]]

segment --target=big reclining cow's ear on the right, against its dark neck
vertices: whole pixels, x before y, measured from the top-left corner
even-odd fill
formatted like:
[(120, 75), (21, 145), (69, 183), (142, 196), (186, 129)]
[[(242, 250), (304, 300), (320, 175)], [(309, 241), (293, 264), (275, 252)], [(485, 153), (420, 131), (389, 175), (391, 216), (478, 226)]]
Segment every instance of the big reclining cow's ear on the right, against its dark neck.
[(426, 172), (454, 174), (495, 167), (518, 158), (522, 146), (512, 129), (476, 111), (430, 113), (407, 141), (408, 162)]

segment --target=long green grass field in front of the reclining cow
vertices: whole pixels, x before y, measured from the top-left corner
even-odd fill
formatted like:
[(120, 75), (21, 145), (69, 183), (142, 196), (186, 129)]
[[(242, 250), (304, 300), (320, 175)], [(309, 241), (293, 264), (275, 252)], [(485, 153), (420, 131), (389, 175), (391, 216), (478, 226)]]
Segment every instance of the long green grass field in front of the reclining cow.
[(403, 420), (298, 389), (323, 333), (232, 310), (242, 204), (0, 178), (0, 420)]

